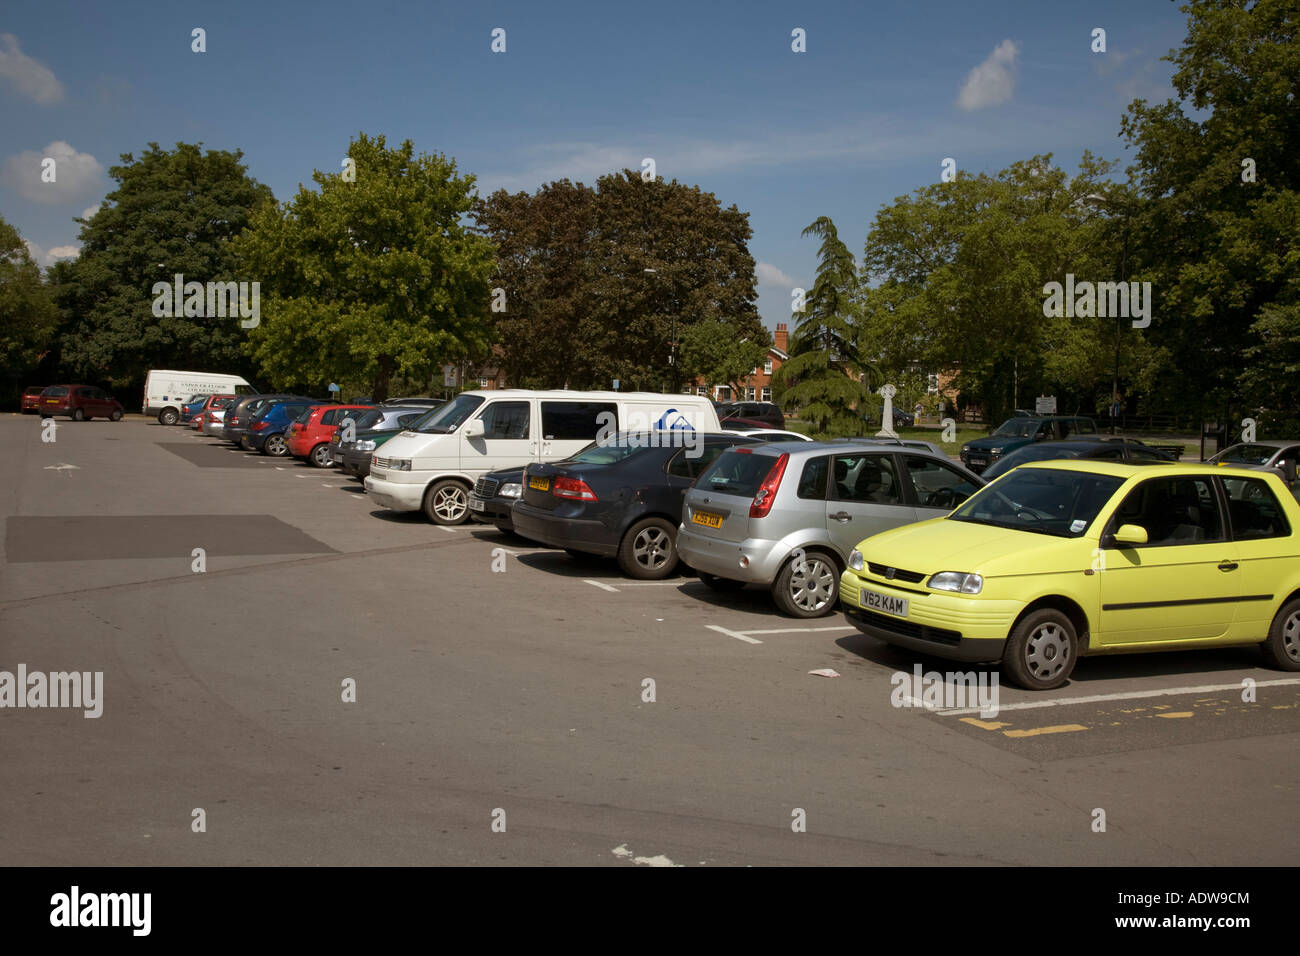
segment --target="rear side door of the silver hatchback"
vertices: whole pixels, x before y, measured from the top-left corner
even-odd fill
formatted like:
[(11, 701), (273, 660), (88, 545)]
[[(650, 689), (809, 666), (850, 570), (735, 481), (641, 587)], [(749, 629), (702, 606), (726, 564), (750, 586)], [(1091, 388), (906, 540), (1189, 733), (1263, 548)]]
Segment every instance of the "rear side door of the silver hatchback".
[(832, 455), (826, 531), (844, 554), (864, 537), (915, 520), (916, 509), (907, 503), (893, 453)]

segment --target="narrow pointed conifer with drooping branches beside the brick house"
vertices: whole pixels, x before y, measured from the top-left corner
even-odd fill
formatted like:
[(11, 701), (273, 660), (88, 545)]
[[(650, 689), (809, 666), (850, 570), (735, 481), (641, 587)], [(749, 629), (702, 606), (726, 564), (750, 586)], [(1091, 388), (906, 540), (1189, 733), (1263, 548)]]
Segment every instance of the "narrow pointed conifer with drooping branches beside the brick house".
[(822, 239), (816, 278), (806, 311), (794, 313), (789, 359), (772, 376), (779, 402), (798, 406), (815, 432), (858, 434), (862, 412), (875, 406), (874, 368), (858, 351), (858, 265), (835, 222), (820, 216), (803, 235)]

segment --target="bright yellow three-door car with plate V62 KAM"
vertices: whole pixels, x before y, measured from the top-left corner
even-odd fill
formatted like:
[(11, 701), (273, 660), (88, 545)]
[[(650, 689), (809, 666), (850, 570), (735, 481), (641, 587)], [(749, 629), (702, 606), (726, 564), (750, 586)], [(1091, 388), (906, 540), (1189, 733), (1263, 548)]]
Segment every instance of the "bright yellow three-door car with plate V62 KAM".
[(1024, 464), (945, 518), (858, 544), (849, 622), (1030, 689), (1080, 654), (1260, 644), (1300, 670), (1300, 505), (1270, 472)]

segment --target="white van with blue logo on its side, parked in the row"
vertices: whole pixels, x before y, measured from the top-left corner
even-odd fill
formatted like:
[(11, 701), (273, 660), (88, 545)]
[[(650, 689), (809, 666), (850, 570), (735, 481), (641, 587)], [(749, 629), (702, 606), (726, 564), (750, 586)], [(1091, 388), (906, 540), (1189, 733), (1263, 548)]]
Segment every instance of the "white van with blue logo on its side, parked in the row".
[(480, 476), (558, 462), (612, 431), (716, 432), (703, 395), (653, 392), (463, 392), (419, 432), (390, 438), (370, 459), (367, 493), (381, 507), (420, 511), (437, 524), (469, 516)]

